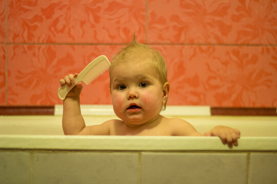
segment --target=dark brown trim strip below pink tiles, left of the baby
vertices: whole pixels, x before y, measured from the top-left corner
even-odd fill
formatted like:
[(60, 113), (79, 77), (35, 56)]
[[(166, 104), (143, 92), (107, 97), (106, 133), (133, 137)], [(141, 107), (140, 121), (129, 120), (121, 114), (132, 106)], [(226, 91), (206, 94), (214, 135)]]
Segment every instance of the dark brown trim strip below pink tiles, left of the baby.
[(0, 115), (54, 115), (54, 106), (0, 106)]

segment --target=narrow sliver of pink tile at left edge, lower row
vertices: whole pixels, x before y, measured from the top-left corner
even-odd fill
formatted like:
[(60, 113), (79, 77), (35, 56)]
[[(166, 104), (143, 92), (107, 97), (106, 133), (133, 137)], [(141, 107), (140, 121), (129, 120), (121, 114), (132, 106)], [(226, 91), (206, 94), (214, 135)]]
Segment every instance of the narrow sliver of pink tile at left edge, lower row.
[(6, 105), (6, 46), (0, 45), (0, 105)]

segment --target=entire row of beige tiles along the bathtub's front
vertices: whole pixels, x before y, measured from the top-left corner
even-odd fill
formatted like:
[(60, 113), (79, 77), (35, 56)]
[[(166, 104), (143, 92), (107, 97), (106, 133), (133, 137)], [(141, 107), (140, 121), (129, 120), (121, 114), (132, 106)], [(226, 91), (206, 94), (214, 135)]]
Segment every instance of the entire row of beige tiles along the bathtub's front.
[(273, 152), (0, 150), (0, 183), (274, 184)]

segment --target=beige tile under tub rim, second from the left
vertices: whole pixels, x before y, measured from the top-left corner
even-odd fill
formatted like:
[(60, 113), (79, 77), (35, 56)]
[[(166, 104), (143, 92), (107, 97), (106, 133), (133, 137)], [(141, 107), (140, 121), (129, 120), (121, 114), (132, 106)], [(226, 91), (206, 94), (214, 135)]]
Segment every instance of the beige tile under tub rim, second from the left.
[(34, 183), (137, 183), (138, 153), (40, 152)]

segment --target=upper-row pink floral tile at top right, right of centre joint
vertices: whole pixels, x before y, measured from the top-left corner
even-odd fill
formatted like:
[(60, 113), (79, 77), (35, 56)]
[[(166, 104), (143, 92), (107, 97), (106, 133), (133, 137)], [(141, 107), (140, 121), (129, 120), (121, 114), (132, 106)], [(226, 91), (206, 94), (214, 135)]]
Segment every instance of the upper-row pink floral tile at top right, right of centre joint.
[(148, 41), (276, 44), (276, 7), (269, 0), (149, 0)]

